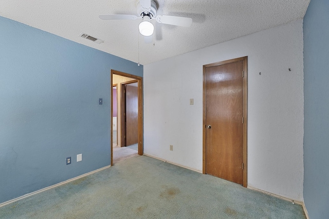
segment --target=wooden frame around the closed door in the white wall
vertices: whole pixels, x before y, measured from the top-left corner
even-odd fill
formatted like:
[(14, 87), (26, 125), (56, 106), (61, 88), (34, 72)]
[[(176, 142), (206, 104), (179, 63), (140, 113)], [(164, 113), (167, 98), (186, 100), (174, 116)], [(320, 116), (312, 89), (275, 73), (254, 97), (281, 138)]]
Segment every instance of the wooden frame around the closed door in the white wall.
[(229, 63), (243, 62), (243, 186), (247, 187), (247, 110), (248, 110), (248, 56), (233, 58), (222, 62), (212, 63), (203, 66), (203, 169), (206, 174), (206, 68), (220, 66)]

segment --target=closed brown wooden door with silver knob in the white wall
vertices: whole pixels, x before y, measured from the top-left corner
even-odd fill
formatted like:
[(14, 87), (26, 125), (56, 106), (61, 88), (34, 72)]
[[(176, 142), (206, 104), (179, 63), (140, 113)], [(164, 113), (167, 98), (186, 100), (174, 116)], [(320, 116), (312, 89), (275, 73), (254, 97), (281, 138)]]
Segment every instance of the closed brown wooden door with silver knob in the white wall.
[[(220, 64), (220, 63), (219, 63)], [(243, 185), (244, 61), (205, 67), (206, 173)]]

